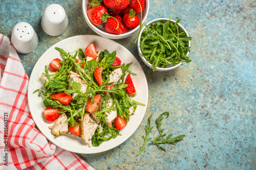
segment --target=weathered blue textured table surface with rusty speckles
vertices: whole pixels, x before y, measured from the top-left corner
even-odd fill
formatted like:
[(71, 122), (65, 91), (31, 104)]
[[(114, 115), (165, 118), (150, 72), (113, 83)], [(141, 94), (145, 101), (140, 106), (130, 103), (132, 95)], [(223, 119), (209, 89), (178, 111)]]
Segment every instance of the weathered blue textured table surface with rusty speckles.
[[(42, 31), (40, 19), (50, 4), (59, 4), (69, 17), (68, 30), (57, 37)], [(39, 37), (30, 54), (19, 54), (30, 76), (38, 58), (56, 42), (75, 35), (96, 35), (83, 18), (82, 1), (1, 1), (0, 33), (10, 37), (16, 23), (28, 22)], [(140, 59), (136, 35), (116, 40), (141, 63), (148, 82), (148, 106), (137, 131), (117, 148), (83, 155), (96, 169), (256, 169), (255, 85), (256, 2), (152, 0), (146, 22), (173, 14), (193, 38), (192, 62), (176, 70), (152, 72)], [(154, 144), (136, 157), (147, 118), (162, 120), (164, 133), (185, 134), (177, 144)], [(139, 114), (139, 113), (137, 113)]]

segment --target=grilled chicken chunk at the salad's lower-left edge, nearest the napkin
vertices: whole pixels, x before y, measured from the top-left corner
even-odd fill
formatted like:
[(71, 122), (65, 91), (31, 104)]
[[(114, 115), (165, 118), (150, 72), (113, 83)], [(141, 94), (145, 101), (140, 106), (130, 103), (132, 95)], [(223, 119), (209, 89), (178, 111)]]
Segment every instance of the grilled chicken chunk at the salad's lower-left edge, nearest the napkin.
[(68, 123), (63, 124), (67, 119), (68, 117), (65, 113), (62, 113), (59, 116), (59, 118), (56, 119), (56, 122), (52, 128), (53, 135), (55, 136), (65, 135), (69, 132), (69, 124)]

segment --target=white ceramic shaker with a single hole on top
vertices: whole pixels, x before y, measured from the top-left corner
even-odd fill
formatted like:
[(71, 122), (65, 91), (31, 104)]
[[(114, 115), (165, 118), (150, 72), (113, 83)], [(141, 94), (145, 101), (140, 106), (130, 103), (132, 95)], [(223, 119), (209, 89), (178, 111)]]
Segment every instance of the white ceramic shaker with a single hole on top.
[(63, 34), (69, 26), (69, 19), (65, 10), (58, 4), (46, 7), (41, 19), (42, 29), (51, 36)]

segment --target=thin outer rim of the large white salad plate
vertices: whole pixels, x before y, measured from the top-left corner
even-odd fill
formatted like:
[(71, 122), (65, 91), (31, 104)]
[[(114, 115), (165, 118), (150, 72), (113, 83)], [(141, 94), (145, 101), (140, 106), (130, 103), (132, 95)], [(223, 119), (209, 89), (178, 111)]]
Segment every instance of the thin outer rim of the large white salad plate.
[[(114, 41), (114, 40), (112, 40), (112, 39), (108, 39), (108, 38), (104, 38), (104, 37), (101, 37), (101, 36), (98, 36), (98, 35), (77, 35), (77, 36), (72, 36), (72, 37), (68, 37), (68, 38), (65, 38), (65, 39), (62, 39), (62, 40), (60, 40), (60, 41), (58, 41), (58, 42), (56, 42), (56, 43), (54, 43), (54, 44), (52, 44), (52, 46), (51, 47), (49, 47), (40, 57), (39, 57), (39, 59), (37, 60), (37, 62), (35, 63), (35, 65), (34, 65), (34, 67), (33, 67), (33, 69), (32, 69), (32, 72), (31, 72), (31, 76), (30, 76), (30, 78), (34, 75), (34, 72), (36, 72), (35, 71), (35, 69), (36, 69), (36, 65), (37, 65), (37, 63), (39, 63), (41, 60), (42, 60), (42, 56), (44, 56), (46, 53), (47, 53), (47, 51), (48, 50), (50, 50), (50, 48), (53, 48), (53, 46), (56, 46), (57, 44), (59, 44), (59, 43), (63, 43), (63, 41), (67, 41), (67, 40), (69, 40), (69, 39), (73, 39), (73, 38), (77, 38), (77, 37), (96, 37), (96, 38), (93, 38), (93, 39), (97, 39), (97, 38), (100, 38), (100, 39), (107, 39), (107, 40), (109, 40), (109, 41), (112, 41), (112, 42), (114, 42), (114, 43), (116, 43), (116, 44), (118, 44), (118, 45), (120, 45), (120, 46), (122, 46), (123, 48), (125, 48), (123, 45), (121, 45), (120, 43), (118, 43), (118, 42), (116, 42), (116, 41)], [(127, 48), (125, 48), (125, 50), (128, 52), (128, 53), (130, 53), (130, 55), (132, 55), (133, 57), (134, 57), (134, 59), (139, 63), (139, 61), (136, 59), (136, 57), (127, 49)], [(116, 50), (117, 51), (117, 50)], [(139, 63), (139, 66), (140, 66), (140, 69), (142, 70), (142, 72), (143, 72), (143, 77), (144, 77), (144, 79), (145, 79), (145, 88), (146, 88), (146, 101), (145, 101), (145, 109), (144, 109), (144, 113), (143, 113), (143, 116), (141, 117), (141, 120), (139, 120), (140, 122), (139, 122), (139, 124), (137, 125), (137, 127), (136, 127), (136, 129), (131, 133), (131, 135), (129, 135), (128, 137), (126, 137), (122, 142), (120, 142), (119, 144), (117, 144), (117, 145), (115, 145), (114, 147), (112, 147), (112, 148), (108, 148), (108, 149), (104, 149), (104, 150), (102, 150), (102, 151), (99, 151), (99, 152), (91, 152), (91, 153), (87, 153), (87, 152), (77, 152), (77, 151), (74, 151), (74, 150), (72, 150), (72, 149), (69, 149), (69, 148), (63, 148), (61, 145), (59, 145), (58, 144), (58, 142), (56, 142), (55, 140), (51, 140), (51, 139), (49, 139), (48, 138), (48, 134), (46, 134), (46, 132), (44, 132), (44, 130), (40, 127), (40, 126), (38, 126), (39, 125), (39, 123), (37, 122), (37, 119), (35, 118), (35, 115), (32, 113), (32, 110), (33, 109), (31, 109), (32, 107), (31, 107), (31, 105), (32, 105), (32, 102), (31, 102), (31, 98), (32, 98), (32, 94), (33, 94), (33, 91), (31, 91), (32, 89), (32, 87), (31, 87), (31, 84), (32, 84), (32, 81), (31, 81), (31, 79), (29, 79), (29, 84), (28, 84), (28, 106), (29, 106), (29, 109), (30, 109), (30, 113), (31, 113), (31, 116), (32, 116), (32, 118), (33, 118), (33, 121), (35, 122), (35, 124), (36, 124), (36, 126), (37, 126), (37, 128), (39, 129), (39, 131), (49, 140), (49, 141), (51, 141), (53, 144), (55, 144), (57, 147), (60, 147), (60, 148), (62, 148), (62, 149), (65, 149), (65, 150), (67, 150), (67, 151), (70, 151), (70, 152), (75, 152), (75, 153), (79, 153), (79, 154), (96, 154), (96, 153), (102, 153), (102, 152), (105, 152), (105, 151), (109, 151), (109, 150), (112, 150), (112, 149), (114, 149), (114, 148), (116, 148), (116, 147), (118, 147), (120, 144), (122, 144), (123, 142), (125, 142), (127, 139), (129, 139), (134, 133), (135, 133), (135, 131), (139, 128), (139, 126), (140, 126), (140, 124), (141, 124), (141, 122), (142, 122), (142, 120), (143, 120), (143, 117), (145, 116), (145, 113), (146, 113), (146, 109), (147, 109), (147, 103), (148, 103), (148, 86), (147, 86), (147, 80), (146, 80), (146, 76), (145, 76), (145, 73), (144, 73), (144, 70), (143, 70), (143, 68), (141, 67), (141, 64)], [(39, 98), (39, 97), (38, 97)], [(87, 145), (84, 145), (85, 147), (88, 147)]]

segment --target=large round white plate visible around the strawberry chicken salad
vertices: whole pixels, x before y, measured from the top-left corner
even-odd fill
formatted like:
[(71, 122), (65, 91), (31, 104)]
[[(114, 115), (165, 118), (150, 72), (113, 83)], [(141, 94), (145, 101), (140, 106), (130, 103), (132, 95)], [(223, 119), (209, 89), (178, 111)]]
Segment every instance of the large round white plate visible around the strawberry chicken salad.
[(30, 112), (39, 130), (51, 142), (60, 148), (81, 154), (100, 153), (117, 147), (136, 131), (146, 111), (146, 106), (138, 105), (136, 113), (130, 116), (129, 123), (120, 131), (122, 135), (119, 135), (115, 139), (102, 142), (99, 147), (89, 148), (80, 137), (75, 137), (71, 133), (61, 135), (59, 137), (52, 135), (52, 132), (48, 127), (53, 126), (54, 122), (50, 123), (45, 119), (43, 113), (45, 106), (42, 104), (42, 98), (38, 97), (38, 92), (33, 94), (36, 89), (42, 89), (42, 84), (44, 84), (40, 80), (40, 74), (41, 72), (44, 72), (45, 65), (49, 66), (49, 63), (53, 59), (61, 59), (59, 52), (54, 49), (55, 47), (63, 48), (66, 52), (71, 52), (77, 48), (86, 48), (92, 42), (95, 43), (97, 51), (103, 51), (105, 49), (110, 53), (116, 51), (117, 57), (121, 59), (122, 63), (133, 62), (130, 67), (131, 70), (137, 74), (137, 76), (132, 76), (134, 86), (137, 91), (137, 95), (133, 99), (146, 105), (148, 99), (147, 82), (142, 67), (136, 58), (119, 43), (100, 36), (79, 35), (67, 38), (51, 46), (36, 62), (30, 76), (28, 87), (28, 103)]

